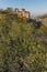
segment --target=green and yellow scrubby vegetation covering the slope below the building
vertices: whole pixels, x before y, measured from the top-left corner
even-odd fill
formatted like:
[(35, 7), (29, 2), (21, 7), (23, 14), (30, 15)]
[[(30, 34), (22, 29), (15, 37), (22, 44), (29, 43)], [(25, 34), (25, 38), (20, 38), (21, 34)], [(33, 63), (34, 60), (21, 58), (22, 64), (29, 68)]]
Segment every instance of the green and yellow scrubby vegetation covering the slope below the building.
[(0, 12), (0, 72), (47, 72), (47, 28)]

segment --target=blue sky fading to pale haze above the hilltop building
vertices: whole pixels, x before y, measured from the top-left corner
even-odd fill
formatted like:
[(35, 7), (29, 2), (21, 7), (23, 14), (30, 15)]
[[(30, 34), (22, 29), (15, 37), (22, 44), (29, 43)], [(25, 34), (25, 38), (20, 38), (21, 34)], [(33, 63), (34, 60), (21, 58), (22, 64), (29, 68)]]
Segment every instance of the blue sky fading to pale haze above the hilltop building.
[(32, 16), (47, 13), (47, 0), (0, 0), (0, 9), (26, 9)]

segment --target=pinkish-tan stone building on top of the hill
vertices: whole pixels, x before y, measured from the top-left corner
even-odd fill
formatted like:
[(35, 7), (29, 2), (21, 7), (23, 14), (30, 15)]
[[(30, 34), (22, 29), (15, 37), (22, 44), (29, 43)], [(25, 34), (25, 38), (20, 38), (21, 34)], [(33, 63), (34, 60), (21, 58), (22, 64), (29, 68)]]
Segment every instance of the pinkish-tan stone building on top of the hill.
[(15, 12), (15, 14), (17, 14), (17, 16), (23, 16), (23, 17), (25, 17), (25, 18), (27, 18), (27, 19), (31, 18), (30, 11), (26, 11), (25, 9), (19, 10), (17, 8), (15, 8), (14, 12)]

